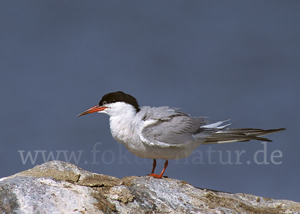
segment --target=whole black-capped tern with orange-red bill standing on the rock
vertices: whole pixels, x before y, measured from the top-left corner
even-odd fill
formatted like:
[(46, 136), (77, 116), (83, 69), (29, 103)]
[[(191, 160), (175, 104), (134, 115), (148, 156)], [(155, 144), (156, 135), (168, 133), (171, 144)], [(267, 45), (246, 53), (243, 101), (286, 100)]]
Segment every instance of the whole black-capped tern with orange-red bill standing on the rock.
[[(186, 158), (200, 145), (244, 142), (249, 140), (271, 141), (264, 135), (280, 129), (227, 128), (229, 120), (209, 123), (207, 117), (191, 117), (179, 108), (140, 107), (137, 100), (122, 91), (110, 92), (93, 106), (78, 115), (93, 112), (109, 115), (112, 137), (122, 143), (132, 154), (153, 159), (149, 176), (162, 178), (168, 160)], [(164, 159), (160, 174), (154, 174), (156, 159)]]

